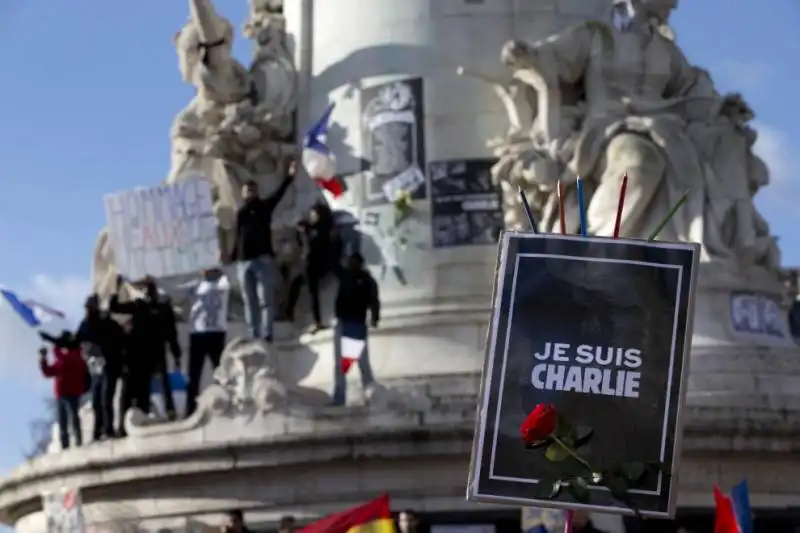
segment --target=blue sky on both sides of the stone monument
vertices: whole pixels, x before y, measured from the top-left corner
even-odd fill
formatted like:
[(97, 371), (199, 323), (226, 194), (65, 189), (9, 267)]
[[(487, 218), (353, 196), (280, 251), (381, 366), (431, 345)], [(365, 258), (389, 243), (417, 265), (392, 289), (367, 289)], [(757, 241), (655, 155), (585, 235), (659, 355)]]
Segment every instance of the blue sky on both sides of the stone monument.
[[(238, 27), (247, 2), (218, 3)], [(756, 110), (758, 149), (773, 171), (759, 205), (781, 238), (784, 262), (800, 265), (800, 236), (791, 230), (800, 217), (792, 172), (792, 147), (800, 143), (800, 4), (681, 4), (672, 25), (689, 59), (710, 69), (721, 90), (743, 92)], [(2, 283), (79, 310), (104, 223), (103, 194), (154, 184), (168, 170), (169, 126), (192, 95), (172, 47), (186, 16), (186, 2), (174, 0), (0, 3)], [(27, 421), (50, 393), (37, 377), (36, 346), (33, 333), (0, 309), (0, 471), (20, 460)]]

